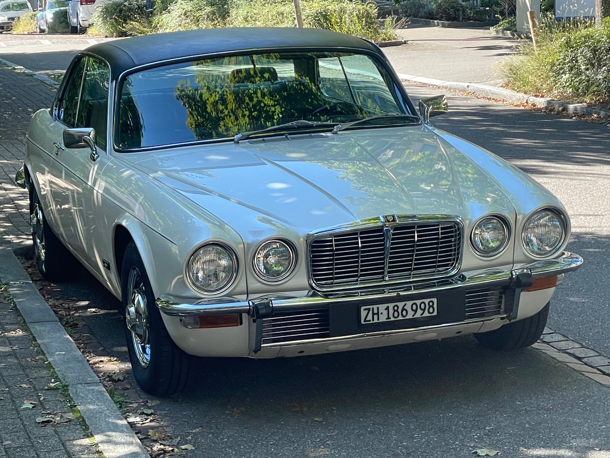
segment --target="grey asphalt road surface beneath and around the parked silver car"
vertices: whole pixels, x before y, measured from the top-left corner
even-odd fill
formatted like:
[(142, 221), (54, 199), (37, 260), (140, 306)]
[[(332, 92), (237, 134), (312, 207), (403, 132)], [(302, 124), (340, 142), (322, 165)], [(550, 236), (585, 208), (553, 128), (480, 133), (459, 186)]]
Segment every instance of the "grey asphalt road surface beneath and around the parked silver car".
[[(416, 99), (438, 93), (407, 89)], [(436, 126), (518, 165), (569, 209), (569, 248), (586, 264), (558, 288), (549, 325), (610, 354), (610, 130), (470, 97), (449, 103)], [(86, 272), (58, 286), (58, 296), (82, 300), (91, 332), (125, 362), (118, 300)], [(196, 359), (187, 390), (156, 410), (195, 445), (189, 457), (447, 458), (486, 446), (503, 457), (608, 458), (608, 393), (542, 352), (500, 354), (463, 336), (293, 359)]]

